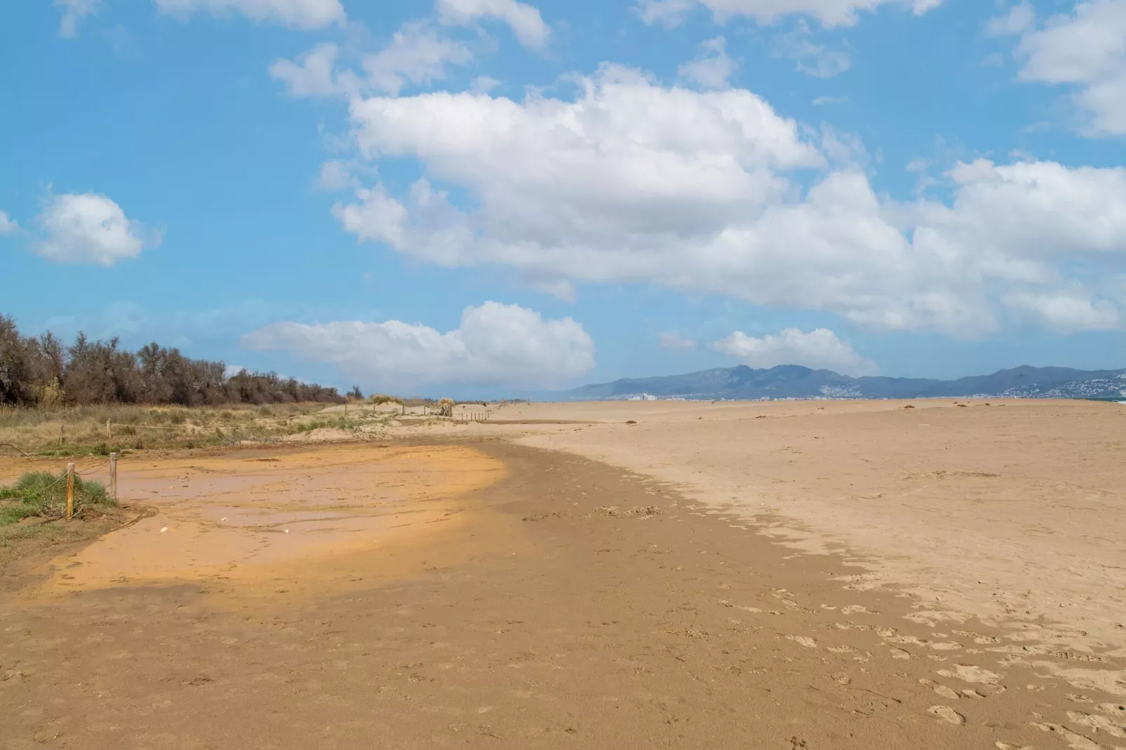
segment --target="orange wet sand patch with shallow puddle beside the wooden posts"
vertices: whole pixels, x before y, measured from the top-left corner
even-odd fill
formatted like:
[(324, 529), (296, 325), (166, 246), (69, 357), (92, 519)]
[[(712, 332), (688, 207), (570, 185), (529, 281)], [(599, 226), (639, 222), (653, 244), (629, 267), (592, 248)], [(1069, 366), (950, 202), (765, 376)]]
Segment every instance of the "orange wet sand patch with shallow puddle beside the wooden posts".
[[(41, 593), (169, 582), (322, 584), (366, 570), (357, 555), (436, 533), (458, 498), (503, 479), (465, 446), (324, 446), (123, 462), (124, 502), (153, 515), (48, 563)], [(321, 588), (321, 587), (318, 587)]]

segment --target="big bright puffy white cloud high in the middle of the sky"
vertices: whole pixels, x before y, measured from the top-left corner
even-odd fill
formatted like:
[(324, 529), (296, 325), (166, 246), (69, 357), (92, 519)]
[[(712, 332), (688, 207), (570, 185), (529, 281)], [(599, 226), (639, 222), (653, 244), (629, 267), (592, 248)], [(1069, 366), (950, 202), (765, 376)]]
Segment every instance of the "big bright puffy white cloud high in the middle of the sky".
[[(771, 166), (823, 163), (795, 122), (749, 91), (667, 89), (614, 66), (581, 84), (574, 101), (467, 92), (356, 100), (356, 142), (368, 158), (415, 158), (435, 178), (468, 187), (485, 206), (482, 229), (546, 252), (562, 236), (703, 229), (787, 190)], [(457, 218), (440, 194), (412, 194), (431, 217)]]

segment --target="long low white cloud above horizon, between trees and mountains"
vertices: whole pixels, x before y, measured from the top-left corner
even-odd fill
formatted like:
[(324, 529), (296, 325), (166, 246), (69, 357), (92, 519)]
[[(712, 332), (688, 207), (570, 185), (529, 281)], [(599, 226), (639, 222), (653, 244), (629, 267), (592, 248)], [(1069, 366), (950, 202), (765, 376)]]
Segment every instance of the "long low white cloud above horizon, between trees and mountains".
[(397, 320), (280, 322), (248, 333), (242, 345), (331, 364), (342, 376), (376, 386), (554, 386), (595, 366), (595, 342), (580, 323), (544, 320), (534, 310), (498, 302), (466, 307), (461, 324), (445, 333)]

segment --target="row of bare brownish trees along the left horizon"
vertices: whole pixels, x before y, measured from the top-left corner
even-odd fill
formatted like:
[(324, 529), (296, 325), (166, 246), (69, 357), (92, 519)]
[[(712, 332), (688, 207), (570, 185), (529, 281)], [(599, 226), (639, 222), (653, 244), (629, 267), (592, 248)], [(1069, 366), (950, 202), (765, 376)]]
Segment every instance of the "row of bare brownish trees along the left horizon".
[[(79, 333), (65, 346), (54, 333), (20, 334), (0, 315), (0, 404), (61, 407), (90, 403), (227, 403), (342, 401), (336, 389), (242, 370), (226, 377), (221, 361), (189, 359), (157, 343), (138, 351), (116, 338), (91, 341)], [(358, 390), (357, 390), (358, 392)]]

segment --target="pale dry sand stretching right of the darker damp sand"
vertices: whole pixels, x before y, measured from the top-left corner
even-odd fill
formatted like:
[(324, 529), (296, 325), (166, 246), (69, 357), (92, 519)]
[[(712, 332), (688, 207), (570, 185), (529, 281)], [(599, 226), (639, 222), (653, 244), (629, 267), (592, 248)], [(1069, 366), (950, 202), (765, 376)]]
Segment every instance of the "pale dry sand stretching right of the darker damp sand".
[[(527, 423), (548, 417), (586, 425)], [(448, 431), (605, 461), (797, 548), (861, 555), (864, 580), (914, 592), (919, 617), (974, 615), (1126, 658), (1123, 404), (601, 402), (497, 418), (509, 423)]]

